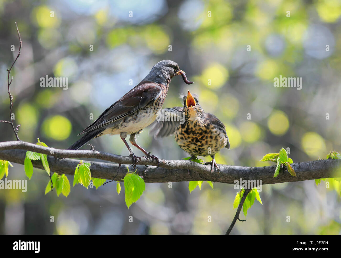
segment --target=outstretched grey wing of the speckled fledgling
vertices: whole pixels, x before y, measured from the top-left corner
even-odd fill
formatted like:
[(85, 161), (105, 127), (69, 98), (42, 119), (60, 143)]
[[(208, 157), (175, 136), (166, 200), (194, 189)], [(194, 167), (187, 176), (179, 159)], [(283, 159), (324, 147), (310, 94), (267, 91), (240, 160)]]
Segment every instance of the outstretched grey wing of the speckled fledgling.
[[(174, 134), (176, 128), (180, 125), (180, 121), (184, 119), (182, 110), (183, 107), (163, 109), (157, 120), (152, 124), (149, 135), (154, 135), (154, 138), (156, 139)], [(164, 119), (166, 117), (167, 119)]]

